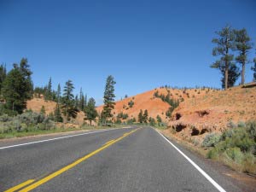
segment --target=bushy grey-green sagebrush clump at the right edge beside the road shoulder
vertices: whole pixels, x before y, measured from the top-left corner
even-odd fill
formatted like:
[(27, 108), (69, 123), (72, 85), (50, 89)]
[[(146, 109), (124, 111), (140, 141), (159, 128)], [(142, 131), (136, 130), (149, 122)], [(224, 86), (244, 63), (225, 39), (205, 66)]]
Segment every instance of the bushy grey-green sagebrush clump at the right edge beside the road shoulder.
[(256, 174), (256, 122), (231, 124), (222, 134), (208, 134), (202, 147), (207, 158), (221, 160), (241, 171)]

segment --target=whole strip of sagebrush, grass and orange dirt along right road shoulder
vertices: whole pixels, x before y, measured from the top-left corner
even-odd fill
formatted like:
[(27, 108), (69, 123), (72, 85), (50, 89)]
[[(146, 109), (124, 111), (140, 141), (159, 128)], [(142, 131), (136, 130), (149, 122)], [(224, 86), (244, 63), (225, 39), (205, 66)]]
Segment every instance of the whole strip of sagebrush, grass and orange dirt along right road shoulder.
[(203, 140), (176, 137), (175, 128), (163, 133), (207, 159), (218, 160), (238, 172), (256, 175), (256, 121), (237, 125), (230, 122), (224, 130), (206, 133)]

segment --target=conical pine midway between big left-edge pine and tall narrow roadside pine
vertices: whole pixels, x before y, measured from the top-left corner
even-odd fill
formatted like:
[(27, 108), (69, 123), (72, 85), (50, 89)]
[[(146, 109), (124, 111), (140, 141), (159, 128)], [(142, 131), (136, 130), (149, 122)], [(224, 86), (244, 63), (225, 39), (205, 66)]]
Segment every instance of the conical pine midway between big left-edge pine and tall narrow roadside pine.
[(73, 89), (72, 80), (68, 80), (63, 90), (63, 101), (61, 106), (62, 113), (66, 115), (67, 120), (70, 120), (71, 117), (76, 118), (77, 113), (79, 112), (78, 108), (75, 108)]

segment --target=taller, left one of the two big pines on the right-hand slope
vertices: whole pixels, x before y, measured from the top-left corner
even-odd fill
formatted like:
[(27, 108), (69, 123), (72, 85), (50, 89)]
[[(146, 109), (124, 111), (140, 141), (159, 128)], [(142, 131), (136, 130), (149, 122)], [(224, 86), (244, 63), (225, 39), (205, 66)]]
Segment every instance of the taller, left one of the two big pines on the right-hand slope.
[(220, 55), (219, 60), (215, 61), (211, 67), (222, 70), (224, 68), (224, 89), (228, 89), (229, 68), (234, 59), (234, 55), (230, 54), (230, 50), (235, 49), (235, 34), (230, 26), (225, 26), (220, 32), (216, 32), (218, 38), (213, 38), (212, 43), (217, 46), (212, 49), (212, 55)]

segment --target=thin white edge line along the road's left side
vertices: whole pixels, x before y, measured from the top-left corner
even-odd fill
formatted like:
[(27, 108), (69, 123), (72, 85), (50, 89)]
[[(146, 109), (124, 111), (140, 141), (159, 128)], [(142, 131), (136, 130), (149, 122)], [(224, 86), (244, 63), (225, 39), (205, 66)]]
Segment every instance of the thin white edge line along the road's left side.
[[(130, 127), (130, 128), (131, 128), (131, 127)], [(5, 146), (5, 147), (0, 148), (0, 150), (1, 150), (1, 149), (4, 149), (4, 148), (15, 148), (15, 147), (20, 147), (20, 146), (24, 146), (24, 145), (34, 144), (34, 143), (44, 143), (44, 142), (59, 140), (59, 139), (68, 138), (68, 137), (77, 137), (77, 136), (89, 135), (89, 134), (97, 133), (97, 132), (112, 131), (112, 130), (118, 130), (118, 129), (123, 129), (123, 128), (113, 128), (113, 129), (101, 130), (101, 131), (91, 131), (91, 132), (85, 132), (85, 133), (81, 133), (81, 134), (77, 134), (77, 135), (72, 135), (72, 136), (55, 137), (55, 138), (51, 138), (51, 139), (44, 139), (44, 140), (40, 140), (40, 141), (37, 141), (37, 142), (30, 142), (30, 143), (21, 143), (21, 144), (16, 144), (16, 145), (9, 145), (9, 146)], [(127, 129), (127, 128), (126, 128), (126, 129)]]

